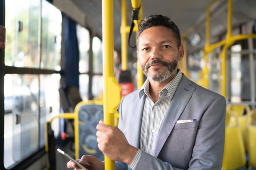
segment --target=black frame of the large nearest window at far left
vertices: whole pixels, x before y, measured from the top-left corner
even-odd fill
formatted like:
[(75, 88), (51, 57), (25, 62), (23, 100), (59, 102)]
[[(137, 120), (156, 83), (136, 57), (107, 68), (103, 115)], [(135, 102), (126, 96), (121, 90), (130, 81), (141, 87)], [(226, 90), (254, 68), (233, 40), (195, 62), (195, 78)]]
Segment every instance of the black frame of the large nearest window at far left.
[[(49, 3), (51, 1), (47, 0)], [(53, 5), (51, 3), (51, 5)], [(40, 0), (40, 10), (42, 7), (42, 0)], [(41, 11), (39, 13), (41, 15)], [(61, 23), (61, 68), (64, 66), (64, 22), (63, 22), (63, 14), (61, 13), (62, 23)], [(41, 16), (38, 22), (41, 25)], [(0, 25), (5, 26), (5, 0), (0, 1)], [(41, 31), (41, 28), (38, 28)], [(41, 37), (40, 37), (41, 41)], [(41, 47), (39, 49), (41, 51)], [(40, 52), (41, 53), (41, 52)], [(40, 54), (41, 55), (41, 54)], [(41, 56), (40, 56), (41, 57)], [(18, 75), (38, 75), (38, 100), (40, 100), (40, 75), (51, 75), (51, 74), (59, 74), (61, 76), (60, 84), (63, 84), (63, 70), (47, 70), (41, 69), (40, 65), (38, 68), (30, 68), (30, 67), (14, 67), (14, 66), (5, 66), (5, 49), (0, 49), (0, 169), (3, 170), (24, 170), (32, 165), (36, 160), (41, 158), (42, 155), (46, 153), (45, 146), (40, 147), (40, 136), (38, 136), (38, 146), (39, 148), (31, 153), (27, 158), (19, 161), (18, 163), (14, 163), (5, 168), (4, 165), (4, 118), (5, 118), (5, 110), (4, 110), (4, 76), (6, 74), (18, 74)], [(40, 133), (40, 107), (38, 107), (38, 133)]]

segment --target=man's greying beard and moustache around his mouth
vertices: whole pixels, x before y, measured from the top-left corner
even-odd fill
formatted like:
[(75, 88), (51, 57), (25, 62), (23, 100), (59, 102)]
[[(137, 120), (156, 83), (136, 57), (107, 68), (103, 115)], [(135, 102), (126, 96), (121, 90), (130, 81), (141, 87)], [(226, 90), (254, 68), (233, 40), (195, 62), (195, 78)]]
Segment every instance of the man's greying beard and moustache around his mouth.
[[(148, 68), (152, 64), (156, 64), (156, 63), (160, 63), (160, 64), (166, 66), (167, 69), (163, 73), (160, 73), (160, 72), (158, 73), (157, 71), (159, 70), (159, 68), (156, 68), (156, 69), (154, 69), (155, 73), (149, 74)], [(141, 65), (141, 63), (139, 63), (139, 64)], [(152, 60), (151, 62), (147, 63), (145, 66), (141, 65), (141, 69), (142, 69), (144, 75), (146, 75), (146, 77), (148, 77), (148, 80), (156, 81), (156, 82), (163, 82), (164, 80), (167, 80), (175, 72), (177, 66), (178, 66), (178, 60), (174, 60), (172, 62), (165, 62), (160, 59), (156, 59), (156, 60)]]

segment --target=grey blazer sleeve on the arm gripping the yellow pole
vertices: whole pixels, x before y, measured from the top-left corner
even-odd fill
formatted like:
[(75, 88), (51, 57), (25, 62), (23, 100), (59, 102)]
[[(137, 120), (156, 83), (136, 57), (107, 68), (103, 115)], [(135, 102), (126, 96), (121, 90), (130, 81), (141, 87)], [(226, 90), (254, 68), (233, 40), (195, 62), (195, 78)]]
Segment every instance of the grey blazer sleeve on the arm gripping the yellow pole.
[[(201, 117), (188, 170), (221, 170), (225, 141), (226, 101), (217, 97)], [(142, 152), (135, 170), (180, 170)]]

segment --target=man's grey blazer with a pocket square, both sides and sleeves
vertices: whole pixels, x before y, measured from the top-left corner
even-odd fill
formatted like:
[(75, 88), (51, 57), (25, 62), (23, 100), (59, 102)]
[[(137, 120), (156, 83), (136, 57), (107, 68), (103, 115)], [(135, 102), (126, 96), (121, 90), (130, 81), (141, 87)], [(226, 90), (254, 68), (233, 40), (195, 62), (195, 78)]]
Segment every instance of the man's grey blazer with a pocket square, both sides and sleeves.
[[(145, 96), (139, 90), (120, 103), (118, 127), (130, 145), (140, 147), (141, 119)], [(154, 155), (142, 152), (136, 170), (221, 170), (225, 139), (226, 101), (185, 75), (167, 109), (156, 142)], [(177, 120), (195, 122), (176, 123)], [(117, 170), (129, 170), (116, 162)]]

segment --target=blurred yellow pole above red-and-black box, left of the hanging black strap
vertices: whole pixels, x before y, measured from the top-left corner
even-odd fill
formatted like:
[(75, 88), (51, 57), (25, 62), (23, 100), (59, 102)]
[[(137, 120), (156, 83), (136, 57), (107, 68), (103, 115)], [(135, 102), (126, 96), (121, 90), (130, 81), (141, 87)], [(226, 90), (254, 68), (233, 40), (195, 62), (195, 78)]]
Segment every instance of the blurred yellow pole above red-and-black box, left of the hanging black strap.
[(126, 25), (126, 0), (122, 0), (121, 9), (121, 57), (122, 57), (122, 70), (127, 70), (127, 36), (125, 32)]

